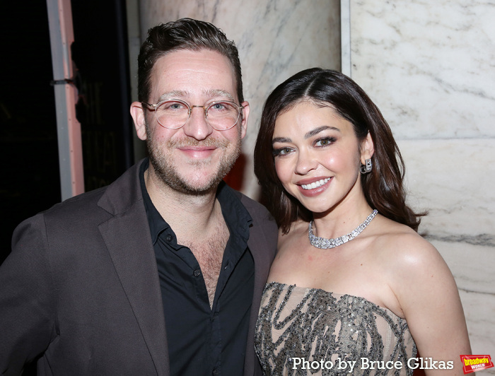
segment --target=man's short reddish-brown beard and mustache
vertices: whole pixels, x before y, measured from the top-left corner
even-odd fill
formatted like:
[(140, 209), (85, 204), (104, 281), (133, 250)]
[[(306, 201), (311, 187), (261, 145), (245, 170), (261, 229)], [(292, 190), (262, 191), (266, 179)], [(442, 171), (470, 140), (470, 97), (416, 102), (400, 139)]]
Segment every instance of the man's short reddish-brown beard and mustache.
[[(215, 146), (216, 148), (227, 151), (231, 142), (225, 139), (219, 140), (214, 138), (207, 138), (202, 141), (187, 137), (177, 140), (168, 140), (165, 145), (160, 145), (154, 142), (153, 131), (148, 128), (146, 124), (146, 146), (148, 146), (148, 158), (155, 170), (158, 178), (170, 188), (177, 192), (192, 195), (202, 195), (208, 192), (216, 191), (221, 180), (232, 169), (235, 160), (240, 155), (240, 134), (235, 143), (235, 147), (230, 153), (224, 153), (219, 161), (218, 170), (212, 174), (204, 184), (194, 184), (187, 180), (187, 177), (181, 177), (179, 174), (180, 166), (173, 163), (172, 157), (168, 157), (167, 151), (173, 151), (173, 149), (181, 146)], [(202, 166), (209, 167), (213, 163), (210, 158), (206, 160), (192, 161), (189, 165), (194, 165), (199, 170)]]

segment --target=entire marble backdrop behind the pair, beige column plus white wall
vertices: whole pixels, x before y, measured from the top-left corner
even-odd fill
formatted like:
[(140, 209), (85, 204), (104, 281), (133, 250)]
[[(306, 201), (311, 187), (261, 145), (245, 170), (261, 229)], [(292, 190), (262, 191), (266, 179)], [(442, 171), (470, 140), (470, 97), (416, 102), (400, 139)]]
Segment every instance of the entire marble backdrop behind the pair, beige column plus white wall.
[(310, 66), (354, 78), (399, 143), (409, 203), (429, 210), (420, 232), (453, 271), (473, 353), (495, 357), (495, 1), (141, 0), (139, 12), (141, 39), (192, 17), (235, 40), (252, 108), (238, 188), (255, 199), (252, 148), (268, 93)]

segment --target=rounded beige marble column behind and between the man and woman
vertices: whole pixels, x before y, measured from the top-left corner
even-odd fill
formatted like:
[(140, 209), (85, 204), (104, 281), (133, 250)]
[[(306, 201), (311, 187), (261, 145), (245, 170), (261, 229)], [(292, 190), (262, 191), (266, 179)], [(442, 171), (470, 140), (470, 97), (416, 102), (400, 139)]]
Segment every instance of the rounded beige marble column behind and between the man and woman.
[(313, 66), (340, 69), (338, 0), (141, 0), (141, 38), (148, 28), (182, 17), (214, 23), (239, 49), (248, 134), (229, 183), (254, 199), (259, 188), (252, 151), (267, 95), (292, 74)]

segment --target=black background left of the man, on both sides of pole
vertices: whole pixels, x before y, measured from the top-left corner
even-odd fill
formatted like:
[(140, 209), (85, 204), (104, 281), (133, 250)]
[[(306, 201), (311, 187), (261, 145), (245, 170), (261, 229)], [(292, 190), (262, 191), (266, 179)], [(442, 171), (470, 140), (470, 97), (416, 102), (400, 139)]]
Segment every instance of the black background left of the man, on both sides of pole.
[[(73, 0), (72, 15), (87, 192), (115, 180), (134, 160), (125, 3)], [(0, 35), (1, 263), (16, 225), (61, 196), (46, 1), (4, 1)]]

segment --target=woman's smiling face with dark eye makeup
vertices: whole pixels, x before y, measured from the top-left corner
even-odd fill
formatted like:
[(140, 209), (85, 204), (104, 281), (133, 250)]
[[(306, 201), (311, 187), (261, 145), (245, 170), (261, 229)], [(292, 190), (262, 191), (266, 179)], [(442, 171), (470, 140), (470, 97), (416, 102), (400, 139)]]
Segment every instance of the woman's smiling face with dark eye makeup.
[(359, 165), (371, 155), (361, 151), (352, 124), (332, 107), (303, 101), (280, 114), (272, 146), (281, 184), (313, 213), (363, 199)]

